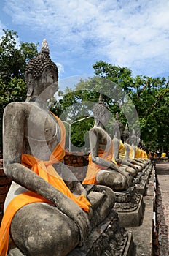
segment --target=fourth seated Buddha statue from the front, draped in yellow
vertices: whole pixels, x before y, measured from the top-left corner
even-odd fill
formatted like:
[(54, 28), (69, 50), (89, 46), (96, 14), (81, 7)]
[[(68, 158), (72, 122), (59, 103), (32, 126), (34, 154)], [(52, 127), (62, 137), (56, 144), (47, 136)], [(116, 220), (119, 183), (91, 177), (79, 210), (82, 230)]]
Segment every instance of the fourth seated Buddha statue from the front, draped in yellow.
[(128, 126), (126, 124), (125, 131), (123, 132), (123, 137), (125, 140), (125, 159), (130, 162), (131, 164), (135, 165), (135, 167), (138, 167), (139, 170), (142, 170), (144, 168), (144, 163), (141, 161), (138, 161), (138, 159), (135, 159), (135, 151), (133, 147), (131, 146), (131, 140), (130, 140), (130, 132), (128, 129)]

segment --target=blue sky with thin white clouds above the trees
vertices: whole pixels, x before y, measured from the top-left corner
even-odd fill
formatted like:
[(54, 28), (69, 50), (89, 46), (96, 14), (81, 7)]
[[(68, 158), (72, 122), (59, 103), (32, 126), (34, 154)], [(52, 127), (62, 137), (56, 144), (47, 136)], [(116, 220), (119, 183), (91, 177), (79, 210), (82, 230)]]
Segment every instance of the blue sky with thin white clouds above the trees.
[(168, 0), (0, 0), (0, 37), (13, 29), (23, 42), (46, 38), (60, 79), (93, 75), (100, 60), (168, 78), (168, 24)]

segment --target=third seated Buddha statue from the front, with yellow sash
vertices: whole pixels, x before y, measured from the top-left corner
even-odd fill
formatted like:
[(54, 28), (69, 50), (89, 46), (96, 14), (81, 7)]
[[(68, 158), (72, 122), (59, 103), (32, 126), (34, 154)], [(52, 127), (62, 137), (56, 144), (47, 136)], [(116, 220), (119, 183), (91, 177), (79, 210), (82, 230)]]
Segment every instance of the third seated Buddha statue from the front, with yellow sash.
[(114, 138), (113, 142), (113, 158), (114, 162), (122, 167), (125, 171), (132, 173), (135, 177), (138, 173), (138, 167), (133, 165), (131, 162), (127, 161), (125, 145), (122, 143), (123, 135), (123, 124), (119, 120), (119, 113), (116, 113), (116, 119), (112, 124)]

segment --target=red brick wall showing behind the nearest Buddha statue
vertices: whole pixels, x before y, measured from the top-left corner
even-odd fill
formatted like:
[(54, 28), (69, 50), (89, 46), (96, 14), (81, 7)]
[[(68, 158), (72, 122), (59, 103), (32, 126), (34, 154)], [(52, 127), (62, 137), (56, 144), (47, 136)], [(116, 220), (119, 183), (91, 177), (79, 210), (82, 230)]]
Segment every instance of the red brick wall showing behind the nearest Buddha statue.
[[(0, 154), (0, 223), (3, 217), (4, 200), (11, 184), (11, 180), (4, 175), (2, 158), (2, 154)], [(87, 172), (88, 157), (80, 152), (66, 151), (64, 162), (79, 181), (83, 181)]]

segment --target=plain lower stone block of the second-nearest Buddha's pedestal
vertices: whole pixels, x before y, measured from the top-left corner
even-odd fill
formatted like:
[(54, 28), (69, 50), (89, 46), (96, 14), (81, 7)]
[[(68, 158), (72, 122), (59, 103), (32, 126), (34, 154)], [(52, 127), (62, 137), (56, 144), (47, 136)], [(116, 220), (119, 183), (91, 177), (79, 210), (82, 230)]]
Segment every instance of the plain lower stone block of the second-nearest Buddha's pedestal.
[(117, 211), (119, 215), (119, 222), (123, 227), (137, 227), (141, 225), (144, 217), (144, 201), (141, 195), (138, 207), (134, 211)]

